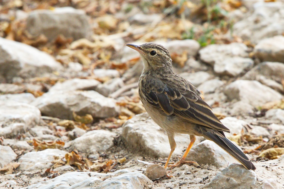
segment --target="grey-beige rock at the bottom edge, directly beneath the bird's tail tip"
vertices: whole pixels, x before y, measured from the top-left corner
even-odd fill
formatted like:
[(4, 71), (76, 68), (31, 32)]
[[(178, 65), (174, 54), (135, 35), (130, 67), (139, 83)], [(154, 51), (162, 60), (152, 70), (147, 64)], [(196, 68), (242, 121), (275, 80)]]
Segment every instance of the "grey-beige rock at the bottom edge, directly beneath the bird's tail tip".
[(256, 183), (256, 173), (240, 164), (231, 164), (219, 172), (204, 188), (247, 189)]

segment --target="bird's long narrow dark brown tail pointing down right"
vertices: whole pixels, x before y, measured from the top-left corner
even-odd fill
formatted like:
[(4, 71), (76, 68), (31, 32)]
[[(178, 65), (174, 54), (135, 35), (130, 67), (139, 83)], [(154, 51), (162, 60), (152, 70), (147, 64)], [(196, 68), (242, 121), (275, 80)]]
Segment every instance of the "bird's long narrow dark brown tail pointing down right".
[(206, 139), (215, 142), (218, 146), (223, 148), (223, 150), (228, 152), (233, 158), (235, 158), (247, 169), (252, 169), (252, 170), (256, 169), (252, 164), (252, 162), (249, 160), (249, 158), (237, 146), (235, 146), (230, 140), (228, 140), (224, 136), (223, 131), (216, 131), (216, 130), (208, 131), (205, 129), (202, 130), (203, 130), (202, 134)]

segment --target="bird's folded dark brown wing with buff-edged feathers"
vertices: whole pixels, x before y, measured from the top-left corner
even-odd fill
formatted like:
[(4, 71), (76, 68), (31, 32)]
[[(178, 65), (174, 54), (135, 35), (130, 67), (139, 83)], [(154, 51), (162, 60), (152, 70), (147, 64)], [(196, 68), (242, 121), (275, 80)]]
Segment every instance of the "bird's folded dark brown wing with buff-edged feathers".
[(166, 115), (175, 115), (194, 124), (230, 132), (202, 100), (201, 92), (179, 75), (143, 82), (143, 86), (141, 92), (148, 103), (161, 109)]

